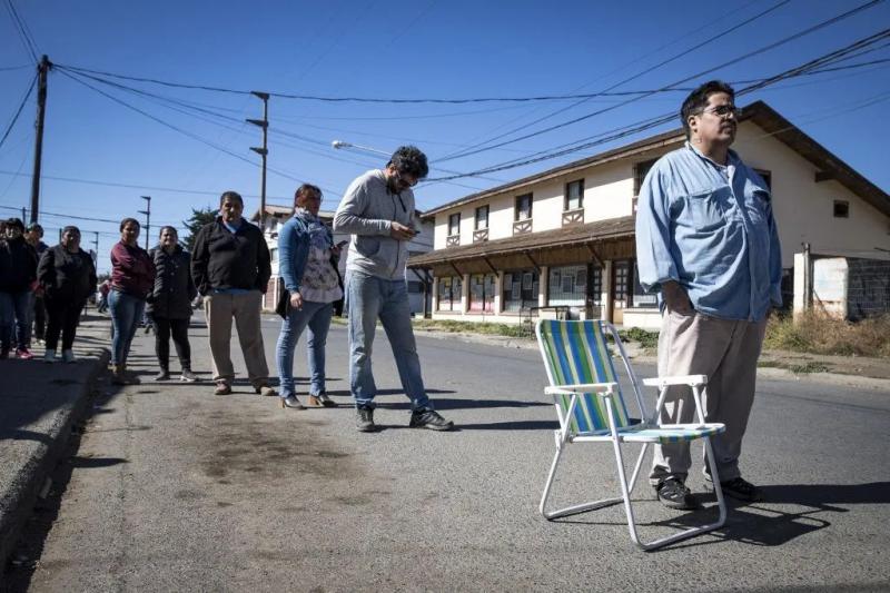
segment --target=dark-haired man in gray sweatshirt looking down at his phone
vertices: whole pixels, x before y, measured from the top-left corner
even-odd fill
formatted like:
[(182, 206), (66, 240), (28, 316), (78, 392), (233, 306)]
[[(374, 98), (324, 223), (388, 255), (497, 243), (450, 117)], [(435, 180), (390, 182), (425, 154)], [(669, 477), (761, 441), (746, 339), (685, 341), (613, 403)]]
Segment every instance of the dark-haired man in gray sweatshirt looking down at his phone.
[(411, 325), (405, 264), (408, 241), (417, 235), (412, 187), (426, 177), (426, 155), (399, 147), (385, 169), (354, 180), (334, 217), (334, 230), (352, 234), (346, 259), (346, 308), (349, 315), (349, 388), (356, 405), (356, 428), (377, 429), (370, 367), (379, 318), (389, 338), (402, 379), (412, 401), (409, 426), (449, 431), (454, 424), (433, 409), (421, 376), (421, 360)]

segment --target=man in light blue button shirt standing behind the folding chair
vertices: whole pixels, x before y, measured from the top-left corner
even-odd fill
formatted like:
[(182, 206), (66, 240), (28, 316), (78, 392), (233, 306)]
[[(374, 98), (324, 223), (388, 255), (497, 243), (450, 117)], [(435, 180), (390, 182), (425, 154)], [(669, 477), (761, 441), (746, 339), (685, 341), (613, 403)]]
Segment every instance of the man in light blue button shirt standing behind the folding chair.
[[(741, 476), (739, 456), (767, 317), (782, 304), (782, 257), (769, 188), (730, 150), (734, 99), (712, 80), (683, 102), (686, 142), (655, 162), (640, 190), (636, 256), (640, 284), (659, 293), (663, 314), (659, 374), (708, 376), (705, 422), (726, 425), (711, 438), (721, 486), (751, 502), (762, 493)], [(671, 387), (662, 422), (694, 414), (689, 387)], [(690, 463), (689, 443), (655, 446), (650, 482), (665, 506), (698, 506), (685, 486)]]

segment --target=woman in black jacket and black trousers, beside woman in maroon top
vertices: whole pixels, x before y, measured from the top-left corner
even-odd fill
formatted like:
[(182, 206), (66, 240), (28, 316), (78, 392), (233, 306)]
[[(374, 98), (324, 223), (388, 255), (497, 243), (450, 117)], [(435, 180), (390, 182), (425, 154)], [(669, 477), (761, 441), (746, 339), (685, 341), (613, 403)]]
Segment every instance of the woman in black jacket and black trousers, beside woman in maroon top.
[(179, 245), (174, 227), (161, 227), (157, 247), (148, 255), (155, 264), (155, 288), (148, 297), (149, 317), (155, 323), (155, 354), (160, 370), (155, 380), (170, 378), (170, 335), (181, 373), (179, 380), (194, 383), (198, 379), (191, 372), (191, 346), (188, 343), (188, 325), (191, 319), (191, 302), (198, 296), (191, 279), (191, 254)]

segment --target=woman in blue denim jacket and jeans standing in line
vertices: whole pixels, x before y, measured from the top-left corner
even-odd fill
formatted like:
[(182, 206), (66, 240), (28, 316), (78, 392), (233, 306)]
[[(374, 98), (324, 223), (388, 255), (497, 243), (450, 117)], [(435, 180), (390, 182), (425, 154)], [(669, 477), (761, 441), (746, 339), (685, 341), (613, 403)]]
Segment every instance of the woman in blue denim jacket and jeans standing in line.
[(325, 343), (334, 303), (343, 298), (330, 228), (318, 218), (322, 190), (304, 184), (294, 196), (294, 216), (278, 235), (278, 269), (290, 294), (287, 317), (278, 336), (279, 395), (281, 407), (303, 409), (294, 387), (294, 348), (308, 328), (306, 345), (309, 359), (309, 397), (313, 407), (336, 404), (325, 393)]

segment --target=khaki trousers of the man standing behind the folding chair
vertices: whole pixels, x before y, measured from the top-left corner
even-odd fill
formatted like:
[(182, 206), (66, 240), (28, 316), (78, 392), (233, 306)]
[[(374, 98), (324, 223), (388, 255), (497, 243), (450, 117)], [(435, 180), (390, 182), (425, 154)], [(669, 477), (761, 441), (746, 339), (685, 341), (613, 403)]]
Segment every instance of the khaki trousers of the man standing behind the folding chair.
[[(721, 482), (741, 475), (739, 456), (754, 403), (758, 357), (765, 329), (767, 319), (733, 322), (668, 310), (662, 317), (659, 375), (708, 375), (702, 402), (704, 421), (726, 425), (726, 432), (711, 437)], [(661, 422), (698, 422), (689, 387), (669, 388)], [(657, 485), (668, 477), (685, 481), (690, 464), (689, 443), (655, 445), (650, 482)], [(706, 464), (704, 471), (708, 475)]]

